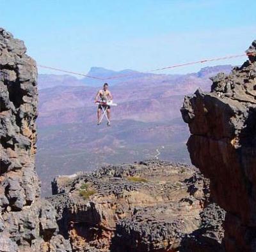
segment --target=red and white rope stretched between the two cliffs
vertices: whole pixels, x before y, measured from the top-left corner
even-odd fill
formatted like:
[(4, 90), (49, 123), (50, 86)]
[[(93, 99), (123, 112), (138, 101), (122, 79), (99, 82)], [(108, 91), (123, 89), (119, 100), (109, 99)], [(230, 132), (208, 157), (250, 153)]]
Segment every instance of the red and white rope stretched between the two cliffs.
[(73, 75), (80, 75), (83, 77), (87, 77), (87, 78), (94, 78), (96, 80), (113, 80), (116, 78), (123, 78), (123, 77), (131, 77), (133, 75), (140, 75), (141, 73), (150, 73), (150, 72), (154, 72), (154, 71), (161, 71), (161, 70), (167, 70), (167, 69), (172, 69), (172, 68), (179, 68), (181, 66), (189, 66), (189, 65), (193, 65), (193, 64), (202, 64), (202, 63), (206, 63), (206, 62), (212, 62), (212, 61), (222, 61), (225, 59), (234, 59), (237, 57), (244, 57), (244, 56), (255, 56), (255, 53), (250, 52), (250, 53), (244, 53), (244, 54), (237, 54), (237, 55), (231, 55), (231, 56), (224, 56), (224, 57), (217, 57), (217, 58), (211, 58), (211, 59), (203, 59), (200, 61), (192, 61), (189, 63), (182, 63), (182, 64), (175, 64), (172, 66), (166, 66), (164, 68), (156, 68), (156, 69), (152, 69), (152, 70), (148, 70), (148, 71), (142, 71), (142, 72), (136, 72), (136, 73), (128, 73), (128, 74), (124, 74), (124, 75), (116, 75), (113, 77), (107, 77), (107, 78), (101, 78), (101, 77), (95, 77), (95, 76), (91, 76), (91, 75), (86, 75), (84, 73), (77, 73), (76, 71), (68, 71), (68, 70), (63, 70), (60, 68), (52, 68), (51, 66), (44, 66), (41, 64), (38, 64), (38, 66), (40, 68), (45, 68), (45, 69), (49, 69), (49, 70), (54, 70), (54, 71), (61, 71), (63, 73), (72, 73)]

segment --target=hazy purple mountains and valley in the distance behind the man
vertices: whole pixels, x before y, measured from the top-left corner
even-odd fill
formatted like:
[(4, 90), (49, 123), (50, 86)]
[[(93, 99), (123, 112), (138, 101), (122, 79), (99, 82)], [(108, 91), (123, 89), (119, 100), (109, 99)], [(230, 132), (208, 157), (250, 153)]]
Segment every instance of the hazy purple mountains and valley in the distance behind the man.
[[(186, 75), (138, 73), (109, 81), (117, 107), (112, 109), (113, 126), (97, 126), (95, 94), (100, 80), (69, 75), (39, 75), (37, 172), (43, 193), (58, 174), (92, 170), (106, 163), (152, 158), (189, 162), (186, 150), (188, 128), (180, 117), (184, 94), (198, 87), (209, 91), (209, 77), (232, 66), (202, 68)], [(126, 75), (92, 68), (88, 75)], [(132, 71), (133, 72), (133, 71)], [(135, 72), (135, 71), (134, 71)]]

